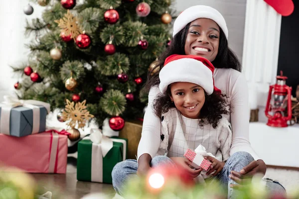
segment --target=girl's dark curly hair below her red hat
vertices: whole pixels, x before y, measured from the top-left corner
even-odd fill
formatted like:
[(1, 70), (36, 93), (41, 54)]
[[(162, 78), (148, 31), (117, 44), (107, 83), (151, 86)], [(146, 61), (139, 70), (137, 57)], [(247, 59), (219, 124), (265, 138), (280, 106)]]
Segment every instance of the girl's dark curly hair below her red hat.
[[(170, 100), (170, 96), (170, 85), (168, 85), (166, 93), (160, 94), (153, 101), (154, 113), (158, 117), (161, 117), (169, 108), (175, 107), (174, 103)], [(228, 106), (225, 98), (226, 95), (219, 95), (216, 92), (213, 92), (211, 95), (205, 93), (205, 102), (200, 110), (199, 126), (211, 124), (213, 128), (217, 127), (219, 120), (222, 118), (221, 114), (228, 115), (230, 113), (225, 108)]]

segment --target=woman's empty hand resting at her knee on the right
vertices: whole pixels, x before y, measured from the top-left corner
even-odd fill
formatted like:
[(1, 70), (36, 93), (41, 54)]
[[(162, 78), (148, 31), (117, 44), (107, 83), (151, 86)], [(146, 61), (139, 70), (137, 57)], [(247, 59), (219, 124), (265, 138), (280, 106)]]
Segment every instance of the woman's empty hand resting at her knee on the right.
[(240, 188), (243, 184), (248, 183), (248, 181), (251, 181), (251, 178), (257, 174), (260, 173), (262, 175), (266, 174), (267, 166), (263, 160), (257, 160), (252, 161), (244, 167), (240, 172), (231, 171), (231, 174), (229, 175), (229, 178), (235, 181), (236, 183), (240, 185), (230, 185), (233, 189)]

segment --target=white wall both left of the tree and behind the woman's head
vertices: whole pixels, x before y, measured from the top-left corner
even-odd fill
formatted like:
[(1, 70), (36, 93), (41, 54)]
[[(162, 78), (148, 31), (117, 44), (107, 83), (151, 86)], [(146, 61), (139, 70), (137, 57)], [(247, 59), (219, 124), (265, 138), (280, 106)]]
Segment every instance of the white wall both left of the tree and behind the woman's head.
[[(25, 15), (23, 7), (29, 0), (6, 0), (0, 6), (0, 101), (7, 94), (14, 94), (14, 83), (18, 81), (9, 65), (27, 63), (28, 49), (25, 44), (31, 38), (24, 36), (25, 19), (40, 17), (43, 7), (32, 3), (34, 12)], [(246, 0), (176, 0), (174, 8), (179, 13), (185, 8), (204, 4), (218, 9), (225, 17), (229, 29), (229, 45), (242, 60)]]

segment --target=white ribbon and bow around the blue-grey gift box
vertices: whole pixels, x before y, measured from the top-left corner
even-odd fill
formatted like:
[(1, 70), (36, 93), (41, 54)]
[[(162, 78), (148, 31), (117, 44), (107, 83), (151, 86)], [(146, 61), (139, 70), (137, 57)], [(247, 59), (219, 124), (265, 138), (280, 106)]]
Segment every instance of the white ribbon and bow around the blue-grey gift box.
[(0, 103), (1, 112), (0, 112), (0, 133), (10, 134), (10, 111), (12, 108), (17, 106), (24, 106), (31, 108), (33, 112), (33, 126), (32, 134), (38, 133), (39, 131), (39, 121), (40, 121), (40, 110), (37, 105), (42, 105), (47, 109), (47, 112), (50, 112), (50, 104), (37, 101), (37, 100), (18, 100), (17, 98), (11, 96), (4, 96), (4, 101)]

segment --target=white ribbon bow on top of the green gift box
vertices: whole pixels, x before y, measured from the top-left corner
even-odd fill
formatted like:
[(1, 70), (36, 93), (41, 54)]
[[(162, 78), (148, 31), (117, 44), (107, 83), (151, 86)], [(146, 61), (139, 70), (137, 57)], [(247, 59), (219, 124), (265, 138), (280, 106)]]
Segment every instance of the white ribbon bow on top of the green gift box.
[(103, 135), (100, 129), (91, 129), (89, 137), (84, 137), (83, 139), (90, 139), (93, 144), (101, 146), (103, 158), (113, 148), (113, 141)]

